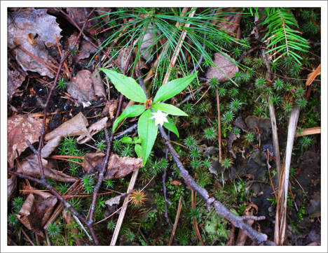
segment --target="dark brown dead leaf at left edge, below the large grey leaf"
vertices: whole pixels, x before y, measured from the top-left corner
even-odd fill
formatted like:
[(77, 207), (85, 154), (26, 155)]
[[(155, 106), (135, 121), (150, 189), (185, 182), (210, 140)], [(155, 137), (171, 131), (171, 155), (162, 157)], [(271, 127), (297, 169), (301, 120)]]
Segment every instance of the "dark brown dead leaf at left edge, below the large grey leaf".
[(8, 76), (8, 93), (7, 99), (11, 101), (13, 96), (22, 96), (22, 91), (18, 88), (24, 82), (27, 73), (14, 62), (10, 57), (8, 57), (8, 66), (7, 66), (7, 76)]

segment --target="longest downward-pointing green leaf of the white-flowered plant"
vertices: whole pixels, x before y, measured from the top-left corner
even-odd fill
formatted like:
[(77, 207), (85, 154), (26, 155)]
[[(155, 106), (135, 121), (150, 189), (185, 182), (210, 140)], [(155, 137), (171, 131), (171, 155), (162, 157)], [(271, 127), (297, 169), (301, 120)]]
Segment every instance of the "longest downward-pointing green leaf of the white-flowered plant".
[(138, 121), (138, 133), (142, 140), (142, 157), (144, 159), (144, 164), (146, 164), (149, 154), (153, 149), (153, 143), (155, 143), (158, 131), (158, 127), (153, 120), (149, 120), (151, 116), (153, 116), (151, 114), (151, 109), (148, 109), (142, 113)]

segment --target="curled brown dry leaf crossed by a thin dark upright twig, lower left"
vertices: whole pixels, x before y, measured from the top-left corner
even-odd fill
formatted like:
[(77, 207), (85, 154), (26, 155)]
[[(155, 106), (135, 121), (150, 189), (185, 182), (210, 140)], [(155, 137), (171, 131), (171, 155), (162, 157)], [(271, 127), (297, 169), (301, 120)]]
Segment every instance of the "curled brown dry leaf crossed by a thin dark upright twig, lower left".
[[(57, 167), (55, 164), (55, 160), (49, 160), (42, 159), (43, 164), (43, 171), (44, 175), (46, 175), (46, 178), (52, 178), (56, 181), (61, 182), (75, 182), (76, 178), (71, 177), (70, 175), (67, 175), (65, 173), (62, 173), (61, 171), (55, 170)], [(22, 159), (20, 161), (20, 166), (17, 168), (18, 173), (25, 173), (26, 175), (30, 175), (32, 177), (39, 178), (41, 177), (41, 171), (39, 166), (39, 160), (38, 157), (36, 157), (36, 154), (30, 154), (25, 159)]]

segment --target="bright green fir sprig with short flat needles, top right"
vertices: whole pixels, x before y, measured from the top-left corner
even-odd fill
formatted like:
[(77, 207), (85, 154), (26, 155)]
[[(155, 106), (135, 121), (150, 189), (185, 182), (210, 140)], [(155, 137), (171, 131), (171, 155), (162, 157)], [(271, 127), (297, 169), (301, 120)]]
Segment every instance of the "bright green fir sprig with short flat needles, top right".
[(302, 59), (302, 57), (296, 54), (296, 50), (307, 52), (304, 48), (309, 48), (309, 46), (306, 43), (306, 39), (298, 35), (301, 32), (292, 28), (292, 26), (299, 27), (294, 15), (289, 13), (287, 8), (266, 8), (266, 12), (268, 17), (262, 24), (268, 24), (268, 33), (265, 36), (267, 38), (266, 41), (268, 41), (268, 48), (278, 44), (278, 46), (268, 50), (266, 53), (272, 51), (275, 51), (275, 53), (281, 52), (280, 57), (291, 55), (296, 62), (301, 64), (299, 59)]

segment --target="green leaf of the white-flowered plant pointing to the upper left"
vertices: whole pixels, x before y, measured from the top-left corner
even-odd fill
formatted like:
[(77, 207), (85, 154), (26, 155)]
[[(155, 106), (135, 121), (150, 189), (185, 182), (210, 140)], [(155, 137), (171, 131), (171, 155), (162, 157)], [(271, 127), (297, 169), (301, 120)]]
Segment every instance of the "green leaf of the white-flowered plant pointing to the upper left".
[(144, 103), (146, 101), (144, 90), (133, 78), (129, 78), (115, 71), (110, 71), (106, 68), (100, 68), (100, 70), (104, 71), (111, 79), (111, 82), (113, 82), (118, 92), (121, 92), (128, 99), (139, 103)]

